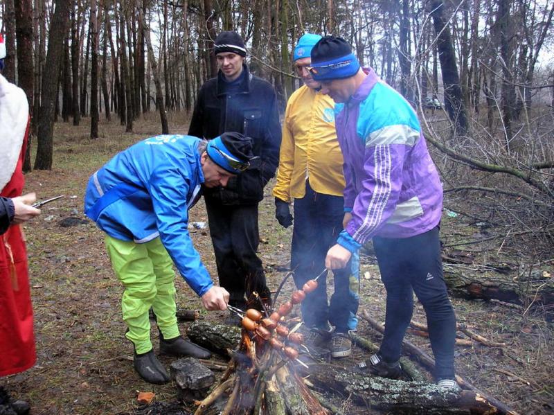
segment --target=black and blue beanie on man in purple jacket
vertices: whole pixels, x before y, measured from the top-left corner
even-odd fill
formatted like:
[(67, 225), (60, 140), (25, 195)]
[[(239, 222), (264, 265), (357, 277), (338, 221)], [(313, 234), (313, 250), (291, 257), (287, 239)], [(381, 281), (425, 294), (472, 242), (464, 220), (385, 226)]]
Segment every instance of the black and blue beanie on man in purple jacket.
[(311, 57), (314, 80), (350, 78), (360, 67), (358, 58), (342, 37), (322, 37), (312, 48)]

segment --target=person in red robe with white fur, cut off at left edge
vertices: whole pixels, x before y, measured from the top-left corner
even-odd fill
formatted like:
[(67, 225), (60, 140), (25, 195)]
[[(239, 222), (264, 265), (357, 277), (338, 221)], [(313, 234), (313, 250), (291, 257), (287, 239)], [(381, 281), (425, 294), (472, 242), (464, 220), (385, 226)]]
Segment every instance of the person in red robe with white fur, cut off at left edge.
[[(29, 108), (25, 92), (1, 75), (4, 58), (0, 35), (0, 377), (25, 371), (36, 361), (27, 252), (19, 224), (40, 214), (31, 206), (35, 193), (21, 195)], [(13, 400), (0, 387), (2, 407), (16, 414), (29, 411), (27, 403)]]

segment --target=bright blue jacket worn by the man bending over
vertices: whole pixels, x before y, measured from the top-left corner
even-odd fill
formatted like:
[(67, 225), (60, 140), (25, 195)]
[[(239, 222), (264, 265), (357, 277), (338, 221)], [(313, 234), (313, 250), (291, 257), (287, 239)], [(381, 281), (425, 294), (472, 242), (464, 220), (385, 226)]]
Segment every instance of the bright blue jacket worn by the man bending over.
[(204, 182), (199, 142), (155, 136), (116, 154), (90, 177), (84, 213), (116, 239), (144, 243), (159, 236), (181, 276), (202, 296), (213, 282), (188, 233), (188, 209)]

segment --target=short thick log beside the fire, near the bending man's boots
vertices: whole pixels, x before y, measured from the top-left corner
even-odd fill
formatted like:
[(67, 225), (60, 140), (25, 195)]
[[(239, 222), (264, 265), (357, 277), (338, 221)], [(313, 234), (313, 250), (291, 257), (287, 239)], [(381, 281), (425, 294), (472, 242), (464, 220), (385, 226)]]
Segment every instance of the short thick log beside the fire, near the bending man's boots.
[(227, 350), (237, 348), (240, 342), (240, 328), (207, 321), (190, 324), (186, 334), (191, 342), (221, 355), (226, 355)]

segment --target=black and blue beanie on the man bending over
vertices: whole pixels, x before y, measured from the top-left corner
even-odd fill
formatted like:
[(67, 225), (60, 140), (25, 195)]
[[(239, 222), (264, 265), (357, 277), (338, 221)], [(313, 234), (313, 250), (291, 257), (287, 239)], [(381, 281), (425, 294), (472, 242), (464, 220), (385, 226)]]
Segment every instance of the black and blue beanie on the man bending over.
[(252, 139), (239, 132), (224, 132), (208, 142), (206, 152), (217, 166), (238, 175), (253, 158)]

